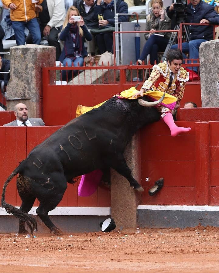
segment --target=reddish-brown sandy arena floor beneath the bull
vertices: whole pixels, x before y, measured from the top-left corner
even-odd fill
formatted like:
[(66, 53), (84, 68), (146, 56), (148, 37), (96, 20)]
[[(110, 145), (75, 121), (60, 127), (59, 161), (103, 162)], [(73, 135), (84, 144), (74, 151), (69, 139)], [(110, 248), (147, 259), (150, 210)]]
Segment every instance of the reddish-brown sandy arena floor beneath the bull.
[(218, 272), (219, 228), (0, 234), (0, 272)]

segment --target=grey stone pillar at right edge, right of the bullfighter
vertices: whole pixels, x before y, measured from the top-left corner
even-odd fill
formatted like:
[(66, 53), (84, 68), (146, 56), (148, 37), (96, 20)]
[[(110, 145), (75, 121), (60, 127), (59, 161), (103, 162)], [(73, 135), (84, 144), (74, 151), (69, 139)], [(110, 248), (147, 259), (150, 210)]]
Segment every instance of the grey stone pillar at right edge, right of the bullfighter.
[(201, 43), (199, 47), (202, 107), (218, 107), (219, 39)]

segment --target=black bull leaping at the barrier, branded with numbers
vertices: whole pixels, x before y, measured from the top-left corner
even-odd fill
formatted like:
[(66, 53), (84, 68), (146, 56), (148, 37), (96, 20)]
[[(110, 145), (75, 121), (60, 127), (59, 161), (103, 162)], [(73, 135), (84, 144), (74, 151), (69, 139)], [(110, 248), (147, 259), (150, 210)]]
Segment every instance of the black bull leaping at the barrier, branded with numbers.
[[(29, 153), (5, 181), (2, 192), (2, 207), (20, 220), (19, 233), (27, 232), (25, 223), (32, 234), (37, 229), (35, 218), (28, 214), (37, 198), (37, 215), (51, 232), (61, 234), (48, 212), (62, 200), (67, 182), (72, 183), (74, 177), (95, 169), (105, 171), (111, 167), (125, 176), (130, 186), (143, 191), (123, 153), (139, 128), (160, 118), (154, 107), (140, 105), (146, 101), (145, 97), (134, 100), (113, 97), (101, 107), (73, 119)], [(17, 189), (22, 200), (19, 209), (5, 202), (6, 187), (16, 174), (19, 174)]]

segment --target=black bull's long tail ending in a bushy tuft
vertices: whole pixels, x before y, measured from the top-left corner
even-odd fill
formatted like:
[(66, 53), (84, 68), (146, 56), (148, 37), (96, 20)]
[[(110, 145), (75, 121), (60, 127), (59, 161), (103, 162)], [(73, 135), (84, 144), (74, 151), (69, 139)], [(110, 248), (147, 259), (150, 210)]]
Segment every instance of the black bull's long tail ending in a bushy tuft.
[(24, 213), (22, 211), (20, 211), (18, 208), (15, 208), (14, 206), (7, 204), (5, 202), (5, 191), (6, 191), (6, 187), (8, 186), (9, 182), (12, 180), (12, 178), (19, 173), (19, 167), (16, 168), (11, 175), (8, 177), (8, 179), (5, 181), (5, 184), (3, 186), (3, 190), (2, 190), (2, 200), (1, 200), (1, 204), (2, 207), (5, 208), (5, 210), (8, 213), (13, 214), (15, 217), (17, 217), (19, 220), (24, 221), (27, 226), (29, 227), (31, 234), (33, 234), (34, 230), (37, 230), (37, 223), (36, 223), (36, 219), (31, 216), (30, 214)]

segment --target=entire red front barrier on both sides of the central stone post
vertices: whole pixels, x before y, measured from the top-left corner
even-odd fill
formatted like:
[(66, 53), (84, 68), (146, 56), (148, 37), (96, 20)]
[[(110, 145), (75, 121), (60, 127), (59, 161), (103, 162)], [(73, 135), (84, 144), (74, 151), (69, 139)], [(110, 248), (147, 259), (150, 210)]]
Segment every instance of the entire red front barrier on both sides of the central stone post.
[[(173, 138), (163, 121), (141, 130), (142, 186), (145, 189), (142, 205), (219, 205), (219, 121), (178, 121), (177, 125), (190, 126), (192, 130)], [(58, 128), (0, 127), (1, 189), (29, 151)], [(146, 177), (150, 182), (145, 182)], [(149, 196), (148, 190), (160, 177), (164, 177), (163, 189), (155, 196)], [(78, 183), (68, 184), (59, 206), (110, 206), (108, 189), (99, 187), (92, 196), (79, 197), (77, 186)], [(15, 178), (7, 188), (6, 201), (20, 205)], [(35, 206), (37, 204), (38, 201)]]

